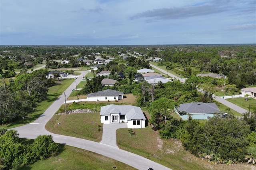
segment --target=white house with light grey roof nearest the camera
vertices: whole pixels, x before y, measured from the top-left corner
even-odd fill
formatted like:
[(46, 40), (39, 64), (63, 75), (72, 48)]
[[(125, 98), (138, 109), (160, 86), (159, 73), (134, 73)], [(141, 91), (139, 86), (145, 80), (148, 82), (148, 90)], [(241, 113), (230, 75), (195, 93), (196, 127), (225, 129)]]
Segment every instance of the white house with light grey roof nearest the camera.
[(100, 109), (101, 123), (127, 123), (128, 128), (144, 128), (146, 117), (140, 107), (131, 105), (107, 105)]

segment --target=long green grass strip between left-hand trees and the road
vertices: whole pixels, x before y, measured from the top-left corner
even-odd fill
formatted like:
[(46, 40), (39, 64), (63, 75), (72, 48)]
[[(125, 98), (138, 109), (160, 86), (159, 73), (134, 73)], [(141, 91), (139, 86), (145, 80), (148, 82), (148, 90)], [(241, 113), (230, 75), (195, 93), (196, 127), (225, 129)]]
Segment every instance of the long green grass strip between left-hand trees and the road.
[(13, 123), (10, 123), (8, 125), (2, 125), (0, 127), (5, 128), (14, 128), (18, 126), (22, 126), (24, 124), (28, 124), (30, 122), (35, 121), (40, 115), (52, 105), (52, 103), (74, 82), (74, 79), (64, 79), (60, 80), (58, 85), (52, 86), (48, 90), (47, 94), (47, 100), (42, 101), (41, 103), (38, 103), (38, 106), (35, 107), (35, 110), (32, 111), (32, 113), (29, 113), (27, 116), (25, 116), (24, 122), (23, 119), (20, 117)]

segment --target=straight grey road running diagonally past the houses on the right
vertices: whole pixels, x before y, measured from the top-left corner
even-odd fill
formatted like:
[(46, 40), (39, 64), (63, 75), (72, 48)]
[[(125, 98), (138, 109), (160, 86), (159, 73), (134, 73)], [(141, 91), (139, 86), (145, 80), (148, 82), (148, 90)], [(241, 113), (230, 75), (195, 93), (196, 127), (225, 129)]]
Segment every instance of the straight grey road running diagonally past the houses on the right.
[[(159, 71), (162, 71), (163, 73), (167, 73), (167, 71), (160, 69), (159, 67), (156, 67), (155, 65), (149, 64), (151, 67), (154, 67), (155, 69), (158, 69)], [(184, 79), (180, 79), (180, 77), (177, 77), (176, 75), (173, 75), (171, 73), (168, 73), (168, 75), (170, 75), (173, 78), (176, 78), (177, 80), (180, 80), (180, 82), (185, 83)], [(203, 92), (202, 89), (198, 89), (198, 91), (200, 91), (201, 93)], [(222, 99), (221, 97), (218, 97), (216, 95), (212, 95), (212, 98), (220, 103), (222, 103), (223, 105), (233, 109), (234, 111), (237, 111), (238, 113), (246, 113), (248, 112), (246, 109), (243, 109), (242, 107), (239, 107), (225, 99)]]

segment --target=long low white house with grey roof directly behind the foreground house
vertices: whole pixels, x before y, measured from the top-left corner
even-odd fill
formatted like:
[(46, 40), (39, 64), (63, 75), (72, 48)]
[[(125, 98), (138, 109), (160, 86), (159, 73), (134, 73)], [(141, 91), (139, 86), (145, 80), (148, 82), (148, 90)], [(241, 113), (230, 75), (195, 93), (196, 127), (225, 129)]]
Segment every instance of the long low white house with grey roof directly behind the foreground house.
[(87, 96), (88, 101), (118, 101), (120, 99), (124, 99), (124, 93), (111, 89), (89, 93)]

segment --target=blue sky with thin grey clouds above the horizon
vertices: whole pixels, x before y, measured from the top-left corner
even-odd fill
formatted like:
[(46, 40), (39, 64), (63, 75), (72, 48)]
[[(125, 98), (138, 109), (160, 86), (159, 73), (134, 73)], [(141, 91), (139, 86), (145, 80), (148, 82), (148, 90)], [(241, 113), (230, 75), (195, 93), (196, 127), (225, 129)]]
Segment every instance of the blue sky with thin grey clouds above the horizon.
[(256, 0), (0, 0), (0, 45), (256, 43)]

